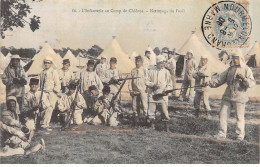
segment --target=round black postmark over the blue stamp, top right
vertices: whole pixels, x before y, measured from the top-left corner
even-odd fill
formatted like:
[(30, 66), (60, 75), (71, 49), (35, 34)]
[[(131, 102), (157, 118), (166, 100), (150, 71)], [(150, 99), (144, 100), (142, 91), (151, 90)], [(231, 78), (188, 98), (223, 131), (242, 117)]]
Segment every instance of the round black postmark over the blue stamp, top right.
[(249, 47), (252, 30), (248, 3), (220, 1), (204, 14), (201, 30), (206, 41), (215, 48)]

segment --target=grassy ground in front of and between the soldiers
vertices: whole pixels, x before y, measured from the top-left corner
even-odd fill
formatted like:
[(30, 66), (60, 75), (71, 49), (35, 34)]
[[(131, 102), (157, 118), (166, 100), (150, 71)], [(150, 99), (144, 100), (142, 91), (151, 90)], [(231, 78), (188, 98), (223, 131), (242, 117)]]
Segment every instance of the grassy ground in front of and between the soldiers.
[[(212, 101), (212, 119), (196, 119), (190, 109), (171, 104), (170, 132), (162, 125), (155, 130), (93, 127), (82, 125), (81, 133), (61, 132), (57, 124), (43, 137), (47, 149), (29, 156), (1, 157), (1, 163), (259, 163), (259, 146), (238, 142), (218, 142), (192, 137), (170, 137), (171, 134), (208, 136), (217, 132), (220, 101)], [(179, 103), (178, 105), (185, 105)], [(126, 105), (127, 106), (127, 105)], [(186, 104), (187, 106), (187, 104)], [(258, 103), (247, 105), (246, 119), (255, 116)], [(231, 119), (234, 115), (231, 114)], [(228, 138), (235, 136), (235, 124), (230, 123)], [(248, 142), (259, 143), (259, 124), (246, 124)]]

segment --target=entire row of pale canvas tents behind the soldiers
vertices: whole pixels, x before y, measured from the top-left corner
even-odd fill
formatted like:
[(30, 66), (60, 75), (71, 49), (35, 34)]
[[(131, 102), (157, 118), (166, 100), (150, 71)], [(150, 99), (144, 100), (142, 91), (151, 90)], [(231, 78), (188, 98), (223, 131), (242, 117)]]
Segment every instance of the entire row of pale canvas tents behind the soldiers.
[[(149, 50), (151, 52), (151, 62), (152, 64), (156, 64), (156, 54), (153, 52), (151, 47), (148, 46), (148, 48), (144, 48), (146, 50)], [(180, 75), (183, 72), (184, 68), (184, 55), (188, 50), (193, 50), (194, 53), (194, 59), (197, 63), (200, 61), (200, 57), (202, 55), (207, 55), (209, 59), (210, 66), (213, 69), (214, 73), (221, 73), (223, 70), (225, 70), (228, 67), (228, 64), (223, 63), (219, 60), (217, 56), (212, 55), (208, 49), (203, 45), (202, 42), (200, 42), (198, 36), (193, 32), (190, 37), (186, 40), (186, 42), (182, 45), (182, 47), (178, 50), (178, 56), (175, 57), (177, 61), (177, 69), (176, 73), (177, 75)], [(145, 51), (145, 50), (144, 50)], [(137, 53), (133, 52), (131, 56), (128, 56), (122, 46), (119, 44), (118, 40), (116, 38), (113, 38), (112, 41), (105, 47), (104, 51), (102, 52), (97, 59), (100, 59), (101, 56), (106, 56), (108, 58), (116, 57), (118, 60), (117, 68), (122, 73), (130, 73), (131, 69), (135, 67), (134, 64), (134, 58), (137, 55), (144, 55), (143, 53)], [(10, 56), (9, 53), (6, 57), (2, 55), (1, 56), (1, 70), (3, 71), (5, 67), (10, 62)], [(42, 71), (42, 63), (46, 56), (52, 57), (54, 60), (55, 66), (59, 69), (62, 68), (62, 58), (59, 54), (57, 54), (52, 47), (46, 43), (43, 48), (40, 50), (38, 54), (36, 54), (30, 64), (30, 67), (27, 71), (27, 74), (39, 74)], [(259, 59), (259, 44), (256, 42), (252, 49), (248, 52), (248, 54), (245, 57), (245, 60), (248, 62), (249, 66), (252, 64), (253, 67), (260, 66), (260, 59)], [(72, 70), (74, 72), (79, 71), (83, 66), (86, 65), (88, 62), (88, 58), (84, 57), (82, 53), (79, 53), (76, 57), (72, 54), (70, 50), (67, 51), (63, 59), (69, 59), (71, 62)]]

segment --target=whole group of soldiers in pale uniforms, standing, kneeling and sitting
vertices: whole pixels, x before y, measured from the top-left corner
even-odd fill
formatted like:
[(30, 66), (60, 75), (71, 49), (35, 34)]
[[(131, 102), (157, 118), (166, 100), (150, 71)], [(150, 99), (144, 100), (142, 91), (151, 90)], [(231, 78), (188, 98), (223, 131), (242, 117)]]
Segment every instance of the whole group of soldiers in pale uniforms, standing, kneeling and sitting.
[[(29, 149), (29, 146), (35, 129), (52, 131), (50, 121), (54, 110), (59, 111), (62, 128), (83, 122), (117, 126), (124, 113), (120, 91), (126, 81), (129, 82), (132, 97), (133, 124), (144, 123), (151, 128), (154, 128), (156, 110), (161, 112), (162, 121), (170, 120), (168, 96), (175, 97), (176, 90), (181, 90), (179, 100), (188, 100), (193, 104), (195, 116), (200, 117), (211, 110), (210, 87), (227, 83), (220, 111), (220, 130), (215, 137), (226, 138), (227, 114), (235, 109), (237, 139), (244, 139), (245, 103), (248, 101), (246, 92), (255, 84), (255, 80), (240, 52), (234, 52), (233, 64), (218, 78), (212, 79), (208, 57), (202, 56), (197, 66), (193, 51), (188, 51), (180, 89), (176, 88), (174, 52), (169, 51), (167, 56), (158, 55), (156, 65), (151, 63), (150, 56), (151, 52), (146, 51), (144, 56), (135, 57), (136, 67), (126, 78), (117, 69), (117, 63), (120, 62), (115, 57), (108, 60), (102, 56), (97, 65), (94, 60), (89, 60), (87, 66), (76, 74), (70, 68), (69, 59), (63, 60), (62, 69), (57, 70), (52, 57), (46, 57), (39, 78), (30, 78), (30, 90), (25, 93), (28, 78), (19, 63), (20, 57), (13, 55), (2, 75), (2, 82), (6, 85), (6, 110), (1, 111), (0, 122), (1, 132), (6, 134), (2, 135), (4, 139), (1, 140), (4, 142), (2, 146), (5, 146), (3, 150), (22, 148), (25, 154), (29, 154), (44, 148), (43, 139), (33, 148)], [(186, 96), (188, 89), (189, 95)]]

